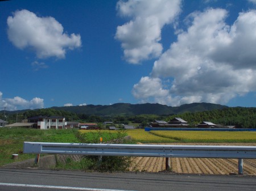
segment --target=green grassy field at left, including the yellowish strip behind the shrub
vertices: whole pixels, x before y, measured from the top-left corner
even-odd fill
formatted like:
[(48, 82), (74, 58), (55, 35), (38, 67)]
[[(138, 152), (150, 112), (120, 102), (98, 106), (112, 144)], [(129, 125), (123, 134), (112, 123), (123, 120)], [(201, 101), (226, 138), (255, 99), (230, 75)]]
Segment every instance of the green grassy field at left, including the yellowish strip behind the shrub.
[(80, 135), (78, 130), (71, 129), (27, 129), (27, 128), (0, 128), (0, 166), (14, 162), (12, 155), (19, 154), (16, 162), (35, 158), (32, 154), (23, 154), (23, 142), (56, 142), (56, 143), (100, 143), (121, 138), (126, 134), (123, 131), (89, 131)]

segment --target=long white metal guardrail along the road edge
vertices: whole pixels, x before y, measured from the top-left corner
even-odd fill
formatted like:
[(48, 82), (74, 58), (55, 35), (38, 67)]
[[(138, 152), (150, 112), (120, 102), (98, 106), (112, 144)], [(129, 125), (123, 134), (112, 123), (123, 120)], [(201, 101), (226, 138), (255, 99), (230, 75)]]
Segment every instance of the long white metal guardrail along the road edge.
[[(196, 145), (117, 145), (85, 143), (24, 142), (23, 153), (74, 154), (98, 156), (155, 156), (164, 158), (233, 158), (238, 160), (242, 174), (242, 159), (256, 159), (255, 146)], [(166, 162), (166, 166), (168, 161)]]

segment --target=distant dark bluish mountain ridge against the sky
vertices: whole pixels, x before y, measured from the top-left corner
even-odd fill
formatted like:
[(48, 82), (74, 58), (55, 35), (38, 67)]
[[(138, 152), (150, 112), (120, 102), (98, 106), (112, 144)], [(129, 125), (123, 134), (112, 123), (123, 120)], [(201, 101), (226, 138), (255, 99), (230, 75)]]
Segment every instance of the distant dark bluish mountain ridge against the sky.
[(185, 112), (202, 112), (213, 109), (223, 109), (228, 106), (211, 103), (192, 103), (184, 104), (179, 107), (171, 107), (161, 104), (129, 104), (117, 103), (113, 105), (82, 105), (69, 107), (51, 107), (51, 109), (64, 110), (77, 114), (97, 115), (97, 116), (113, 116), (113, 115), (138, 115), (138, 114), (179, 114)]

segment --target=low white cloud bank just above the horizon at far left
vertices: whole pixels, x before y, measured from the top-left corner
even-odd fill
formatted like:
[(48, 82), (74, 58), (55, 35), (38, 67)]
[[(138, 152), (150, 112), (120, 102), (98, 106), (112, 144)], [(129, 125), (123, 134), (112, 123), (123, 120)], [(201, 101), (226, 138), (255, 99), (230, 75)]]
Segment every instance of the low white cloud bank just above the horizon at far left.
[(26, 100), (22, 97), (3, 98), (0, 92), (0, 108), (6, 108), (7, 111), (15, 111), (18, 109), (39, 109), (44, 107), (44, 100), (34, 97), (32, 100)]

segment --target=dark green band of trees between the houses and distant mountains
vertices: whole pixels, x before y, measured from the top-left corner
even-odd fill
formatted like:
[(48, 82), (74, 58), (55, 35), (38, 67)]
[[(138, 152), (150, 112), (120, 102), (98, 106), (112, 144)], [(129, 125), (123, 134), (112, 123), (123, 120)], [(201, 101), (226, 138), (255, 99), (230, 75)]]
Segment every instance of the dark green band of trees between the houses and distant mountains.
[(155, 120), (170, 121), (174, 117), (180, 117), (187, 121), (189, 126), (195, 127), (202, 121), (213, 122), (221, 125), (236, 125), (238, 128), (256, 128), (256, 108), (232, 107), (224, 109), (214, 109), (204, 112), (185, 112), (180, 114), (168, 114), (158, 116), (156, 114), (139, 114), (136, 116), (114, 115), (114, 116), (97, 116), (61, 111), (56, 109), (35, 109), (20, 113), (0, 113), (0, 119), (13, 122), (22, 122), (30, 117), (35, 116), (63, 116), (66, 121), (78, 122), (97, 122), (112, 121), (114, 124), (139, 124), (140, 126), (148, 126), (150, 122)]

